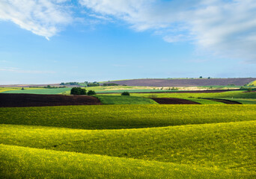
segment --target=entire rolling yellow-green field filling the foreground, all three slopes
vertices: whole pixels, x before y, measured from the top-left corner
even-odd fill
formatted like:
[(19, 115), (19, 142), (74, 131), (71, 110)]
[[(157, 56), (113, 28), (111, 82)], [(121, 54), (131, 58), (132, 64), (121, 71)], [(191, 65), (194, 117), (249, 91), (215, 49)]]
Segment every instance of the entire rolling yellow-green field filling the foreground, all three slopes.
[(0, 178), (256, 178), (255, 105), (1, 107), (0, 116)]

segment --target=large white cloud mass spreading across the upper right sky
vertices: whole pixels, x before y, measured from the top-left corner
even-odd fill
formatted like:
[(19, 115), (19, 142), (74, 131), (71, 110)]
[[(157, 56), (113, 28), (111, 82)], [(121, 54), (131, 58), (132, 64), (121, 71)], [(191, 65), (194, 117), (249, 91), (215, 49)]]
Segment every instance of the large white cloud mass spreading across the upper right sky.
[(193, 40), (214, 54), (256, 61), (255, 0), (80, 0), (137, 31), (162, 31), (165, 41)]

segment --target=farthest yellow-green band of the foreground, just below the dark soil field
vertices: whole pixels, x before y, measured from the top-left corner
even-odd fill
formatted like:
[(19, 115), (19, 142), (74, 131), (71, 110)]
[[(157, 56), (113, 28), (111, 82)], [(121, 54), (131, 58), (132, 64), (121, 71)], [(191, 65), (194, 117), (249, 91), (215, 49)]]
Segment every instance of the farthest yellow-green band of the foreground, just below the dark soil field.
[(0, 107), (0, 124), (58, 128), (153, 128), (256, 120), (255, 105), (100, 105)]

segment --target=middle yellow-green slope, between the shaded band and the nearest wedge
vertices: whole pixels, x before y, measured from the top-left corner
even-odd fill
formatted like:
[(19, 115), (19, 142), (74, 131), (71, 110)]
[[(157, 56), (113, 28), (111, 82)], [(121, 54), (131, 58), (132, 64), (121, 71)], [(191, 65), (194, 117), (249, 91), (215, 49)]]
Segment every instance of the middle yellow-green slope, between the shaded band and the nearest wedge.
[(1, 125), (0, 143), (239, 171), (256, 170), (256, 122), (76, 130)]

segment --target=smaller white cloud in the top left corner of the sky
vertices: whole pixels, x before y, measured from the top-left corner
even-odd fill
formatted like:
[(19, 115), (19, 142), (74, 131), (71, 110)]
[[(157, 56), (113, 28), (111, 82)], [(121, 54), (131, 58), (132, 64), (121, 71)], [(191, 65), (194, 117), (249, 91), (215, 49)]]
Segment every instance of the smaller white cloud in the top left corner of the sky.
[(64, 2), (67, 0), (1, 0), (0, 20), (11, 21), (46, 37), (54, 36), (62, 25), (72, 21)]

